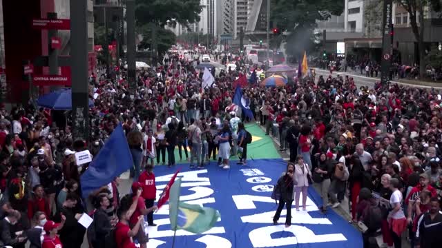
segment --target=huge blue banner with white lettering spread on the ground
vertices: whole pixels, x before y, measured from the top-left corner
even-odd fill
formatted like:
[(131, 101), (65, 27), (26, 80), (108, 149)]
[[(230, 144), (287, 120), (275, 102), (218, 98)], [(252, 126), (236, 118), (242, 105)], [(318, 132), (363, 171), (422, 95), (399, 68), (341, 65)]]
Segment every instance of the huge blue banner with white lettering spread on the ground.
[[(270, 198), (271, 191), (286, 165), (281, 159), (259, 159), (244, 167), (232, 165), (229, 171), (213, 163), (207, 169), (183, 168), (178, 174), (182, 178), (180, 200), (218, 209), (221, 217), (204, 234), (177, 230), (175, 247), (362, 247), (361, 234), (352, 225), (332, 210), (320, 214), (321, 199), (313, 188), (309, 189), (307, 211), (292, 209), (291, 227), (285, 228), (285, 210), (280, 225), (273, 225), (277, 205)], [(155, 167), (158, 194), (173, 172)], [(154, 222), (157, 227), (146, 228), (148, 247), (171, 247), (169, 205), (155, 214)]]

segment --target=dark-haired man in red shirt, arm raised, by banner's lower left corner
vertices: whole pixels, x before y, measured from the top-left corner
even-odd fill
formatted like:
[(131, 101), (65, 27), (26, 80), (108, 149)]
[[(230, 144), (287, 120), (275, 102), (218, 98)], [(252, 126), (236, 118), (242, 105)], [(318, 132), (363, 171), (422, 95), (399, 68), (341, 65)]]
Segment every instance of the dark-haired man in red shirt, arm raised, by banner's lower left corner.
[[(135, 196), (126, 195), (120, 201), (120, 207), (117, 210), (119, 222), (115, 225), (115, 242), (118, 248), (135, 248), (132, 237), (140, 231), (140, 225), (144, 221), (144, 216), (138, 216), (137, 222), (132, 229), (129, 227), (129, 220), (137, 209), (138, 200), (141, 198), (142, 189), (135, 190)], [(127, 207), (130, 203), (130, 207)], [(145, 246), (145, 245), (144, 245)]]

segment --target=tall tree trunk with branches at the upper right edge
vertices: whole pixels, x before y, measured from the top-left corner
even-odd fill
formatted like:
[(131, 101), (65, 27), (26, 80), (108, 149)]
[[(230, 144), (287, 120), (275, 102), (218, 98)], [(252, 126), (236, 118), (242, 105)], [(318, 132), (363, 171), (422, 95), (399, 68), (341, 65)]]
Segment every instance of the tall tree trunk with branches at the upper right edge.
[[(412, 32), (414, 39), (416, 39), (419, 47), (419, 77), (423, 79), (425, 77), (425, 43), (423, 41), (423, 34), (425, 31), (424, 19), (425, 10), (430, 8), (435, 12), (441, 10), (441, 0), (395, 0), (399, 6), (402, 6), (410, 14), (410, 25), (412, 26)], [(419, 13), (419, 23), (417, 15)]]

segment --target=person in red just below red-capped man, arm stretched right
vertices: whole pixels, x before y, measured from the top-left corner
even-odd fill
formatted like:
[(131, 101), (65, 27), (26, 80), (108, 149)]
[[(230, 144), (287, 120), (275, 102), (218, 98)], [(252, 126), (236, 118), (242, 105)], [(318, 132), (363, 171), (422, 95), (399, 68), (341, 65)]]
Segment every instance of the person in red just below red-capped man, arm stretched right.
[[(139, 189), (143, 189), (143, 186), (139, 182), (135, 182), (132, 184), (132, 192), (138, 192)], [(140, 216), (146, 216), (147, 214), (151, 213), (152, 211), (155, 211), (157, 209), (157, 206), (153, 206), (150, 208), (146, 208), (146, 205), (144, 203), (144, 198), (142, 196), (133, 195), (133, 201), (137, 201), (137, 207), (135, 208), (135, 211), (133, 211), (133, 214), (131, 218), (129, 219), (129, 225), (133, 228), (135, 225), (137, 225)], [(141, 248), (146, 248), (146, 242), (148, 242), (148, 237), (144, 233), (144, 229), (140, 228), (137, 231), (137, 234), (135, 235), (135, 238), (140, 243)]]

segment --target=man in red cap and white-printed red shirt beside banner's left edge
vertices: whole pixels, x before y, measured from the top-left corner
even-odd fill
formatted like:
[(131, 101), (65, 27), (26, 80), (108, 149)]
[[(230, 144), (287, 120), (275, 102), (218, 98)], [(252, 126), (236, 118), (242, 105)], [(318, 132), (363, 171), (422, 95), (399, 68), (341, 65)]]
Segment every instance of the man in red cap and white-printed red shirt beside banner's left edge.
[[(155, 198), (157, 198), (157, 187), (155, 186), (155, 174), (153, 174), (153, 165), (146, 165), (146, 170), (138, 178), (138, 182), (142, 185), (144, 203), (146, 203), (146, 209), (153, 207)], [(148, 225), (155, 227), (153, 223), (153, 211), (147, 214)]]

